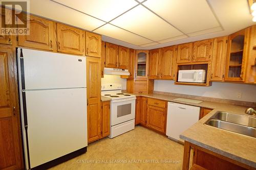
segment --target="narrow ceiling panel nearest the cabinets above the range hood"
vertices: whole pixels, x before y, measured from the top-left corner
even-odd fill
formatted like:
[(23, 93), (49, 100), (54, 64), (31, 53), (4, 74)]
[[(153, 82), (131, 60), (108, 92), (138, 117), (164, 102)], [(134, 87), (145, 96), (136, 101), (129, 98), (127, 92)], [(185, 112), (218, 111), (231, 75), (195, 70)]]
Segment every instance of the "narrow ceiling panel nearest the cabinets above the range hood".
[(115, 39), (119, 39), (119, 40), (122, 40), (125, 42), (129, 42), (134, 45), (140, 45), (140, 44), (146, 44), (146, 43), (153, 42), (151, 40), (148, 40), (148, 39), (138, 36), (136, 34), (125, 31), (116, 26), (113, 26), (109, 23), (96, 29), (94, 32), (96, 32), (98, 34), (105, 35), (105, 36), (109, 36), (109, 37), (112, 37)]

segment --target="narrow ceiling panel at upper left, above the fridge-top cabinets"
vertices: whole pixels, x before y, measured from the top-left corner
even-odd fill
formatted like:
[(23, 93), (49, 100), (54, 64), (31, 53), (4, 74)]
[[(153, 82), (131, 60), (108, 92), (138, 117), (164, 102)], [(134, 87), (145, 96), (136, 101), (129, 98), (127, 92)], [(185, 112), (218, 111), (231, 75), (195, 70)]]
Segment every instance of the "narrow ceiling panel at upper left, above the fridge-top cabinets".
[(30, 13), (92, 31), (105, 22), (49, 0), (30, 0)]

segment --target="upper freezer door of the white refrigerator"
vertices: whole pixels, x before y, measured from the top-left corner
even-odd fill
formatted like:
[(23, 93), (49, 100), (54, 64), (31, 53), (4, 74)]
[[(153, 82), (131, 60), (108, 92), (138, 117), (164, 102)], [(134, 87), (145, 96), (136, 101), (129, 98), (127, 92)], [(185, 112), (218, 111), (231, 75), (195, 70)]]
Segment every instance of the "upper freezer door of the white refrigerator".
[(25, 89), (86, 87), (86, 57), (25, 48), (17, 52), (18, 61), (20, 56), (24, 60)]

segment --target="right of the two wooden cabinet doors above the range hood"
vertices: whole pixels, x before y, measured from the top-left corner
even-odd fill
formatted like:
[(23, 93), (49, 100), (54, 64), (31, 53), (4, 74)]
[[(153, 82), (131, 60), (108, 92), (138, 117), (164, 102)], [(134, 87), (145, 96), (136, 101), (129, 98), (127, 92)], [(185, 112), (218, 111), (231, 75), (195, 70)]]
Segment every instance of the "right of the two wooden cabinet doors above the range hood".
[(124, 46), (119, 46), (118, 52), (118, 68), (128, 69), (129, 68), (129, 57), (130, 57), (130, 48)]

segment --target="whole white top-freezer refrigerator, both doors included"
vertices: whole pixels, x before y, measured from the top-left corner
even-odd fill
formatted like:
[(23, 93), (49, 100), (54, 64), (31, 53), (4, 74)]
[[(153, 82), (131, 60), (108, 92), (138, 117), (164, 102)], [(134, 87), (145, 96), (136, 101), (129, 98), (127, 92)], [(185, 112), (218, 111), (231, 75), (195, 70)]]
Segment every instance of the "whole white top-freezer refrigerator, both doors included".
[(87, 147), (86, 57), (17, 48), (26, 168)]

